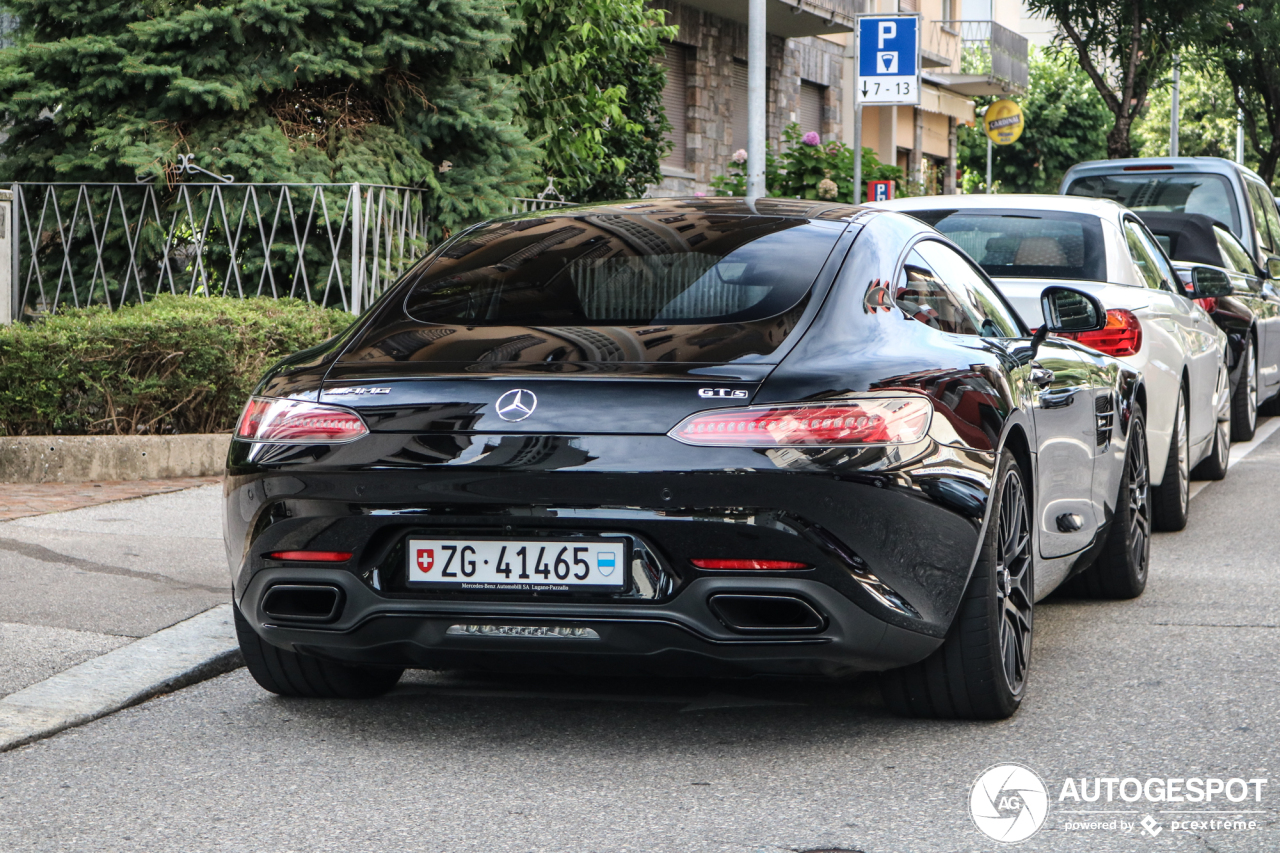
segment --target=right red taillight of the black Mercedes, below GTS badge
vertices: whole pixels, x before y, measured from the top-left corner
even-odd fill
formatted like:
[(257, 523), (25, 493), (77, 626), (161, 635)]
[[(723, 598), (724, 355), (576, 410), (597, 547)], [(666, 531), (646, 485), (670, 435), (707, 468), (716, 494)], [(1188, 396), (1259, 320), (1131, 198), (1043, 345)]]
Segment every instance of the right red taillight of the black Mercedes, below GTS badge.
[(700, 447), (824, 447), (911, 444), (929, 432), (924, 397), (869, 397), (858, 402), (714, 409), (690, 415), (668, 435)]

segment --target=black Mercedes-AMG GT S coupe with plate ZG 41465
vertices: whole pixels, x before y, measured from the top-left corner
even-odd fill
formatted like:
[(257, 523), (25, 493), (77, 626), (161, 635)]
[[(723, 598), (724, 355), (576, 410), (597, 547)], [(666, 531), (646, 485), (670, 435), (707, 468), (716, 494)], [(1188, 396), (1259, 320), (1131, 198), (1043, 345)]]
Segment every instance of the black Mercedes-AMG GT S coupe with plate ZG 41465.
[(1144, 389), (1029, 334), (905, 215), (643, 200), (474, 227), (237, 426), (227, 549), (268, 690), (404, 667), (886, 671), (901, 712), (1021, 702), (1034, 602), (1142, 593)]

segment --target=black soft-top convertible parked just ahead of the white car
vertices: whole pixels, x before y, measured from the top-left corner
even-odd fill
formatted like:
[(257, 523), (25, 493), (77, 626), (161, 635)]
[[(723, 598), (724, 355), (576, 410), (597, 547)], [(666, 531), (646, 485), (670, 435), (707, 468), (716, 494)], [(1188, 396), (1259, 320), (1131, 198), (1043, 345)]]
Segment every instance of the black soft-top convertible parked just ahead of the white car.
[[(1258, 410), (1280, 403), (1280, 292), (1222, 223), (1203, 214), (1140, 214), (1194, 289), (1197, 265), (1220, 270), (1231, 284), (1229, 296), (1207, 297), (1201, 306), (1226, 333), (1231, 356), (1231, 439), (1247, 442), (1258, 424)], [(1203, 273), (1202, 273), (1203, 274)]]

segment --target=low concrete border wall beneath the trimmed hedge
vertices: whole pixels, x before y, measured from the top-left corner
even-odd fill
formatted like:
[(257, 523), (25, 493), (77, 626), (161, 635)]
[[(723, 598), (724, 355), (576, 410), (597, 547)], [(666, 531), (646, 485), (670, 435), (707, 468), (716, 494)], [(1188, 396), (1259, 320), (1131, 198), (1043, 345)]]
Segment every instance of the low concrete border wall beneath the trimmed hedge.
[(229, 433), (193, 435), (8, 435), (0, 483), (83, 483), (212, 476), (227, 465)]

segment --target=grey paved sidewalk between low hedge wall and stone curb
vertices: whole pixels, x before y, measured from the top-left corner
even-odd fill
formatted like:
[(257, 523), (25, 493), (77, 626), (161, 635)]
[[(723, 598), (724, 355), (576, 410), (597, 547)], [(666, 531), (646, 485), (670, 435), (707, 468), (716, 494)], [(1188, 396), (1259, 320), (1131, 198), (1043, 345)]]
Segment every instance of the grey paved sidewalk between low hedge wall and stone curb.
[(0, 485), (0, 697), (229, 601), (216, 483)]

